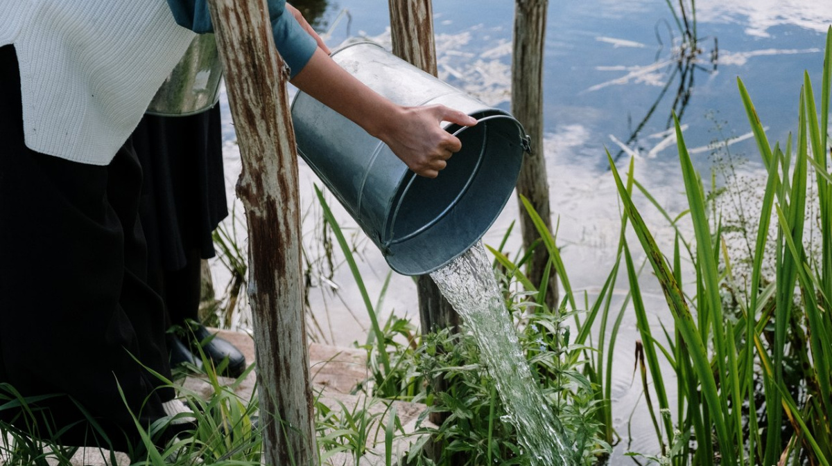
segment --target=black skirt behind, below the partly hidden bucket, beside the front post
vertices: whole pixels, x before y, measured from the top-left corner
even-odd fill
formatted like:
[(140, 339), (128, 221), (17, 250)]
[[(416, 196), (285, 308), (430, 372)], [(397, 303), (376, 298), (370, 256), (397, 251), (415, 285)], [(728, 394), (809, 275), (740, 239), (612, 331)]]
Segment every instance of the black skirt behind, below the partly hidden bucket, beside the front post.
[(215, 255), (211, 233), (228, 215), (220, 105), (190, 116), (145, 115), (132, 135), (144, 170), (140, 215), (148, 267), (186, 267)]

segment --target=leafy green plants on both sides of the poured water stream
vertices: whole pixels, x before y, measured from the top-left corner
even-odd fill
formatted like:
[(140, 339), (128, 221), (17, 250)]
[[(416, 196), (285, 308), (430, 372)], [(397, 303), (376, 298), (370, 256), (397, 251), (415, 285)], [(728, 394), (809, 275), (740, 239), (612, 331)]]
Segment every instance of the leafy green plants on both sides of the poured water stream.
[[(369, 299), (352, 251), (323, 195), (319, 190), (317, 192), (324, 218), (349, 264), (372, 322), (373, 331), (364, 347), (368, 350), (370, 380), (374, 383), (366, 394), (425, 403), (428, 405), (428, 411), (423, 414), (425, 419), (431, 413), (446, 416), (438, 429), (420, 431), (420, 434), (433, 436), (436, 449), (441, 452), (438, 458), (414, 454), (414, 464), (475, 465), (484, 461), (488, 464), (528, 464), (529, 457), (518, 449), (517, 432), (504, 420), (507, 412), (495, 394), (488, 368), (479, 359), (473, 336), (468, 335), (463, 326), (458, 334), (445, 329), (411, 341), (413, 328), (407, 321), (391, 316), (384, 327), (380, 326), (375, 311), (378, 307), (374, 307)], [(546, 231), (537, 213), (530, 212), (542, 228), (543, 243), (550, 248), (552, 263), (563, 268), (554, 238)], [(519, 272), (522, 262), (515, 264), (502, 253), (492, 251), (498, 265), (509, 271), (507, 275), (501, 275), (498, 270), (495, 273), (503, 284), (507, 309), (513, 317), (532, 373), (566, 427), (578, 456), (591, 464), (597, 456), (607, 454), (609, 446), (597, 434), (600, 424), (595, 412), (599, 404), (592, 383), (581, 371), (586, 361), (579, 353), (585, 347), (570, 341), (569, 329), (564, 325), (577, 313), (566, 312), (565, 303), (559, 309), (546, 307), (545, 289), (524, 289), (532, 286)], [(561, 279), (568, 284), (567, 277)], [(542, 277), (542, 283), (547, 283), (547, 277)], [(528, 311), (529, 308), (533, 308), (532, 311)], [(403, 344), (403, 339), (407, 343)], [(447, 388), (434, 391), (430, 383), (434, 379), (444, 380)], [(347, 430), (350, 433), (360, 431), (353, 425)]]

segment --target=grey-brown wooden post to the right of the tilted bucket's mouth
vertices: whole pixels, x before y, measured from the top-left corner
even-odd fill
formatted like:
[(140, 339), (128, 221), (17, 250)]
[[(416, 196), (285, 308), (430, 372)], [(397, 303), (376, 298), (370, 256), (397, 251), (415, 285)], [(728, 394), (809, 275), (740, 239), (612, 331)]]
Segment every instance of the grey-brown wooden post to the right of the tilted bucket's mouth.
[[(546, 36), (548, 0), (517, 0), (514, 10), (514, 52), (512, 55), (512, 114), (531, 135), (532, 154), (523, 159), (518, 178), (518, 194), (525, 196), (540, 214), (547, 228), (552, 230), (549, 208), (549, 184), (546, 158), (543, 154), (543, 46)], [(520, 204), (520, 225), (523, 248), (529, 248), (540, 235)], [(535, 249), (528, 277), (542, 284), (549, 253), (540, 245)], [(557, 306), (557, 276), (549, 276), (546, 303)]]

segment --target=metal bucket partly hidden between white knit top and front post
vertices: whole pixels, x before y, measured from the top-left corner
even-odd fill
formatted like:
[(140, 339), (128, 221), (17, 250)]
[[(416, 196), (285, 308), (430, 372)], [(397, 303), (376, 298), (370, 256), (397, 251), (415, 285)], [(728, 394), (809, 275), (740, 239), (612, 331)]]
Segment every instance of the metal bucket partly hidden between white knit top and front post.
[(186, 116), (208, 110), (220, 101), (221, 78), (214, 34), (200, 34), (156, 91), (146, 113)]

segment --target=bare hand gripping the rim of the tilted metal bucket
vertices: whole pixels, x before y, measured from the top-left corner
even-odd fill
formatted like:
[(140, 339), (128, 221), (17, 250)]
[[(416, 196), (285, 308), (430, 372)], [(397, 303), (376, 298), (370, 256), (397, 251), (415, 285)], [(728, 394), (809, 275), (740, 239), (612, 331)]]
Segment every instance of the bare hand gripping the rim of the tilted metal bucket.
[(416, 174), (436, 178), (454, 152), (462, 148), (456, 136), (443, 130), (441, 121), (473, 126), (477, 120), (444, 105), (399, 107), (394, 118), (385, 118), (375, 137)]

